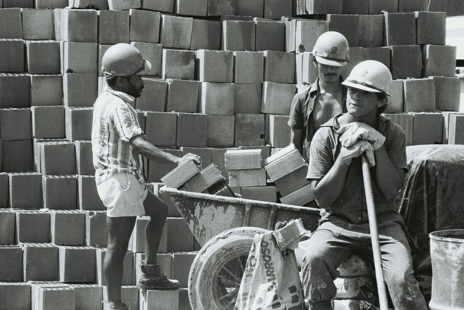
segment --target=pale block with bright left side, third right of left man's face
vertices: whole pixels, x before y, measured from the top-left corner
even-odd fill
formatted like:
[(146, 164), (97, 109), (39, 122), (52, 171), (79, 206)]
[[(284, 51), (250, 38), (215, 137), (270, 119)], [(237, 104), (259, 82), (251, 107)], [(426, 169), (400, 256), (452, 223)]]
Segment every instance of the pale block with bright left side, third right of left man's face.
[(234, 114), (235, 89), (232, 83), (201, 82), (199, 109), (204, 114)]

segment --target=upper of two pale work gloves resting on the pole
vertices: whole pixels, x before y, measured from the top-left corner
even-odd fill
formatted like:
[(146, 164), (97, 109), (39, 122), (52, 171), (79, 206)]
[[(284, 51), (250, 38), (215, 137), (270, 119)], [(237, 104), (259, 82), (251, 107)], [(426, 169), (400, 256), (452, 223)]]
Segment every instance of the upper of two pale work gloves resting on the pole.
[(340, 142), (342, 146), (354, 145), (358, 139), (367, 140), (372, 143), (374, 150), (377, 151), (385, 142), (385, 137), (374, 128), (361, 122), (349, 123), (342, 126), (337, 133), (341, 134)]

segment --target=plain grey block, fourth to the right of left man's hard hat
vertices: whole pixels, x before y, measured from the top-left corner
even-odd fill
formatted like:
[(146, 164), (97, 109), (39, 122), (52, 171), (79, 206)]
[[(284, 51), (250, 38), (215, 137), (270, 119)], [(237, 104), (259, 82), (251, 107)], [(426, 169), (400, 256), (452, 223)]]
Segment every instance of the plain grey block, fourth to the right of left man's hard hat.
[(234, 83), (263, 83), (264, 53), (235, 51), (234, 59)]

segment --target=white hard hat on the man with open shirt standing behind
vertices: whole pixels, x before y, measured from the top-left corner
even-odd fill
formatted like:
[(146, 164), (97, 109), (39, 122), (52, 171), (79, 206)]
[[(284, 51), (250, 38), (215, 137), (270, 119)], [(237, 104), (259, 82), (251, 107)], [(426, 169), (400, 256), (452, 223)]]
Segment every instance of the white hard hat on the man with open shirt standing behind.
[(324, 32), (317, 38), (312, 54), (318, 63), (342, 67), (349, 61), (348, 40), (340, 32)]

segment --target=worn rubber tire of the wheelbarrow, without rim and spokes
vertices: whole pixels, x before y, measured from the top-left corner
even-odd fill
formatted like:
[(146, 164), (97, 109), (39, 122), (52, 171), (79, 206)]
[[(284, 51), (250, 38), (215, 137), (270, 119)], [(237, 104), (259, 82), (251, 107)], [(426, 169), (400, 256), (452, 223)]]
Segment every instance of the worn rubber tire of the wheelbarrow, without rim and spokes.
[(192, 310), (220, 310), (213, 293), (213, 279), (230, 260), (250, 253), (255, 234), (268, 230), (239, 227), (226, 230), (211, 238), (198, 252), (188, 278), (188, 294)]

